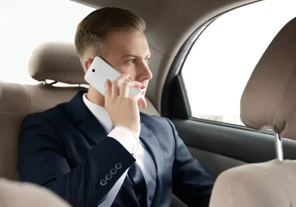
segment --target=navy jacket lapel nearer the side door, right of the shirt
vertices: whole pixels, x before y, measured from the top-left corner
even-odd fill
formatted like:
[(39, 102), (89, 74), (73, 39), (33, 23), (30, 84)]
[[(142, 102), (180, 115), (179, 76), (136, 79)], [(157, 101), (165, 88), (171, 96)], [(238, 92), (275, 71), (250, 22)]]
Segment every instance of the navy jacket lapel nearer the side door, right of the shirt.
[(148, 129), (143, 123), (141, 123), (140, 139), (147, 148), (147, 151), (151, 155), (156, 167), (156, 187), (154, 197), (151, 203), (151, 207), (156, 207), (159, 204), (162, 191), (163, 156), (161, 153), (161, 148), (159, 146), (158, 140), (151, 132), (151, 130)]

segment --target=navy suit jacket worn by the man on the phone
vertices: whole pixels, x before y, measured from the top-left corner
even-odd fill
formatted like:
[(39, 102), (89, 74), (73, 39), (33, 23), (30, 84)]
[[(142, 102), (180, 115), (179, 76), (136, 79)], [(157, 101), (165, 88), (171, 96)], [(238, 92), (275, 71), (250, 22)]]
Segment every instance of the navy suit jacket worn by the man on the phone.
[[(85, 106), (79, 91), (67, 103), (28, 115), (21, 124), (18, 170), (21, 181), (49, 188), (74, 207), (98, 207), (134, 157)], [(141, 113), (140, 139), (156, 166), (156, 189), (151, 207), (169, 207), (172, 193), (188, 206), (208, 203), (212, 176), (188, 152), (172, 122)], [(100, 180), (122, 164), (106, 185)], [(135, 193), (122, 206), (138, 207)]]

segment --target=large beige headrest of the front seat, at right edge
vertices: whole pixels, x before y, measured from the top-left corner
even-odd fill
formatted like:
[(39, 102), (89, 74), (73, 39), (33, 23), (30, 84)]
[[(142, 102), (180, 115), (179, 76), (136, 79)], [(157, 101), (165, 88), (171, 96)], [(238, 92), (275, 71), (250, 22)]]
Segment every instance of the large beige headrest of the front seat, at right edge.
[(241, 98), (241, 120), (296, 139), (296, 18), (270, 43)]

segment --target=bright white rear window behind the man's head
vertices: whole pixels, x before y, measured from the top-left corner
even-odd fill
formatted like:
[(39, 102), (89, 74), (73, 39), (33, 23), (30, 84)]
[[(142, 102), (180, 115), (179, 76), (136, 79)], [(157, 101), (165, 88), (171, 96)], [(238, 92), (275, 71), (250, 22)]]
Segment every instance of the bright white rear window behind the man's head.
[(70, 0), (1, 0), (0, 81), (38, 83), (28, 74), (35, 47), (46, 41), (74, 42), (77, 24), (93, 10)]

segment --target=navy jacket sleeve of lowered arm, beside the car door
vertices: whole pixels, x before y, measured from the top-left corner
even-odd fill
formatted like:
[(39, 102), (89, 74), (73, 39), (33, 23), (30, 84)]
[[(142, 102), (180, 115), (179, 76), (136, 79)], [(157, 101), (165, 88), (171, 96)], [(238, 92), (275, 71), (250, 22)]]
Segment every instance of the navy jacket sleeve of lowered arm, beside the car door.
[(214, 185), (213, 177), (194, 159), (174, 124), (171, 124), (176, 140), (173, 165), (173, 193), (189, 207), (208, 207)]

